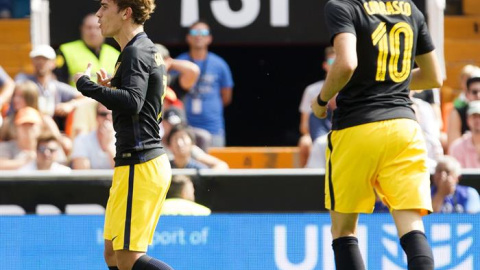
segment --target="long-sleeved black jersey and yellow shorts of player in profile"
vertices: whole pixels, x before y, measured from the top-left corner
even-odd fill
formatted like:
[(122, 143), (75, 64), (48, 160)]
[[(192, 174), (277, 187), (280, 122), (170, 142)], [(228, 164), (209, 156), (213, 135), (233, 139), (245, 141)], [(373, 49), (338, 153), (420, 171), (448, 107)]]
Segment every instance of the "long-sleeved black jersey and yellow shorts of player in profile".
[(159, 123), (166, 89), (162, 57), (137, 34), (115, 65), (111, 87), (83, 76), (77, 88), (113, 112), (115, 170), (105, 215), (105, 239), (114, 250), (146, 251), (171, 181)]

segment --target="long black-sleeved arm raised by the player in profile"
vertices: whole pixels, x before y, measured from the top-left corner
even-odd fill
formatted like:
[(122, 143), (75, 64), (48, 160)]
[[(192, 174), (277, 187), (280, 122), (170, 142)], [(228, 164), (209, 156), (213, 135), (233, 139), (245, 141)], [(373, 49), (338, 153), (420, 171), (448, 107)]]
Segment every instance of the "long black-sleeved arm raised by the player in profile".
[(127, 68), (123, 68), (120, 75), (123, 89), (112, 89), (90, 81), (87, 73), (90, 72), (91, 64), (83, 76), (78, 78), (77, 89), (83, 95), (97, 100), (110, 110), (138, 114), (145, 101), (149, 78), (149, 65), (139, 59), (138, 54), (138, 50), (134, 47), (124, 50), (122, 66)]

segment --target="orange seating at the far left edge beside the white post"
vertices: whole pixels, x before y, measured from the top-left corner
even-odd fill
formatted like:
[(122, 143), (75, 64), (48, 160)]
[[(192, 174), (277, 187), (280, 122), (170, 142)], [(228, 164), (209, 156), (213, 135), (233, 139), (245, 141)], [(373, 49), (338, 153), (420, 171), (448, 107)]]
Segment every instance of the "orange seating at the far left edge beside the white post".
[(0, 33), (0, 65), (12, 77), (19, 72), (31, 73), (30, 19), (2, 19)]

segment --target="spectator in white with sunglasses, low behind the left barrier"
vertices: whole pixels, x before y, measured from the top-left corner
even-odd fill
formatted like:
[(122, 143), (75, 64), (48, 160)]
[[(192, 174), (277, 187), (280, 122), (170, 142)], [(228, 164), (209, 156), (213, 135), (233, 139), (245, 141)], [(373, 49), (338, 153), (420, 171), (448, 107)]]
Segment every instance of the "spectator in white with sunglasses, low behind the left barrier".
[(39, 137), (37, 140), (37, 157), (19, 171), (52, 171), (56, 173), (68, 173), (71, 169), (57, 162), (60, 152), (60, 143), (53, 136)]

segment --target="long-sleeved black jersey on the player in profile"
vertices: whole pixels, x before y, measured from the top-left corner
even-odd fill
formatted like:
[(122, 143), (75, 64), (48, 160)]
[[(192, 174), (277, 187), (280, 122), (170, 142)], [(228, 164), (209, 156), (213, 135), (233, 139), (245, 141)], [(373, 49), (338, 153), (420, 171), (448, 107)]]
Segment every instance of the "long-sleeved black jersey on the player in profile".
[(77, 81), (82, 94), (113, 112), (115, 166), (142, 163), (164, 153), (159, 123), (166, 81), (163, 59), (143, 32), (118, 57), (110, 88), (86, 76)]

